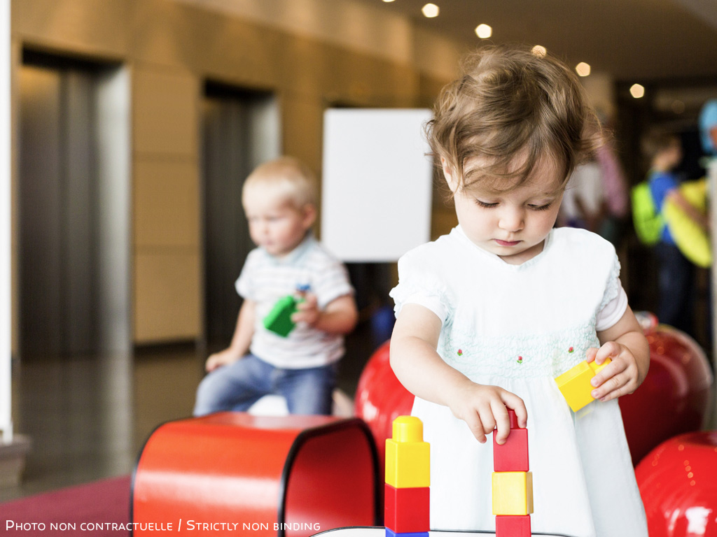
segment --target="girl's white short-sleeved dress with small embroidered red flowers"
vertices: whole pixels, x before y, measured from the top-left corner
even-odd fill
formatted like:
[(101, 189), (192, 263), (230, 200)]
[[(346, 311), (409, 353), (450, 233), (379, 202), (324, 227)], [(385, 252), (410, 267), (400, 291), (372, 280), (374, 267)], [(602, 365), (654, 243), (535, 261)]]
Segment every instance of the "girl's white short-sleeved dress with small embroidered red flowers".
[[(556, 228), (522, 265), (475, 246), (460, 226), (399, 260), (396, 311), (442, 319), (438, 353), (480, 384), (523, 399), (533, 473), (533, 532), (647, 537), (617, 400), (572, 412), (554, 378), (599, 347), (596, 332), (625, 313), (612, 244)], [(431, 445), (431, 528), (495, 530), (493, 439), (479, 444), (447, 407), (416, 398)]]

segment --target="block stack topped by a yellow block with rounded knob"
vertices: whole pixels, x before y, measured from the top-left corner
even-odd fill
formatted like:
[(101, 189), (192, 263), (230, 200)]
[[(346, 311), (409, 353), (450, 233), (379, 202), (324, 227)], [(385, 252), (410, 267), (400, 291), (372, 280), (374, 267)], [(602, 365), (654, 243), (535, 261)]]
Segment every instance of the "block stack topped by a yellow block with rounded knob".
[(384, 524), (386, 537), (427, 537), (429, 530), (430, 447), (417, 417), (394, 420), (386, 440)]

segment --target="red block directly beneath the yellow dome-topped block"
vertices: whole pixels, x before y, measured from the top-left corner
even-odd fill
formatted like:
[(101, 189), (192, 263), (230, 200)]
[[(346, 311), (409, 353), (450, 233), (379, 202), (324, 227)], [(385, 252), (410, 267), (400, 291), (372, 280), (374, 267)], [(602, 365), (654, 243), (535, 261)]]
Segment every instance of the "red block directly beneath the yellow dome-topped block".
[(429, 488), (395, 488), (388, 483), (384, 495), (384, 525), (394, 533), (429, 530)]

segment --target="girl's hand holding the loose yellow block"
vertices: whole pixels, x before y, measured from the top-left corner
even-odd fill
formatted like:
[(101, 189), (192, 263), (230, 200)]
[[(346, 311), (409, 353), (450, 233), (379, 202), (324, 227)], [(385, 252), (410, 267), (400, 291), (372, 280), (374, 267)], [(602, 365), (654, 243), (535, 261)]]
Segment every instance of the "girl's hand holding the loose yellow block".
[(637, 368), (637, 359), (630, 349), (617, 342), (606, 342), (599, 349), (587, 349), (588, 362), (594, 360), (597, 364), (602, 364), (606, 358), (611, 359), (612, 363), (605, 366), (590, 381), (595, 388), (590, 395), (594, 399), (609, 401), (637, 390), (642, 379)]

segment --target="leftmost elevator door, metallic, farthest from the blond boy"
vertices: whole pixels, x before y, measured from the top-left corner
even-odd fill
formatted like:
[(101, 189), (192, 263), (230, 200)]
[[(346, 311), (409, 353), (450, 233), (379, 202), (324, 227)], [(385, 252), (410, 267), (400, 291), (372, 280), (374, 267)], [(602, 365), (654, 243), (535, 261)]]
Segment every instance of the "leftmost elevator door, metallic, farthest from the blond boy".
[(45, 60), (19, 73), (20, 352), (126, 349), (127, 77)]

